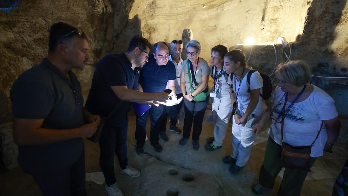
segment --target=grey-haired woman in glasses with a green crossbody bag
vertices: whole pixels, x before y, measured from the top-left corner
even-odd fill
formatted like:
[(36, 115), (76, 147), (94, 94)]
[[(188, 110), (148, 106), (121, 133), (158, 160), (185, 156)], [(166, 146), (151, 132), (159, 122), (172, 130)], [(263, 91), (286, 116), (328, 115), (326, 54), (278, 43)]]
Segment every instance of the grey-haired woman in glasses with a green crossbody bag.
[[(184, 97), (184, 126), (180, 145), (189, 140), (193, 123), (192, 145), (199, 149), (199, 136), (202, 131), (203, 117), (209, 100), (209, 66), (208, 62), (199, 57), (202, 50), (197, 40), (189, 41), (185, 46), (188, 59), (181, 66), (180, 87)], [(195, 98), (196, 97), (196, 98)]]

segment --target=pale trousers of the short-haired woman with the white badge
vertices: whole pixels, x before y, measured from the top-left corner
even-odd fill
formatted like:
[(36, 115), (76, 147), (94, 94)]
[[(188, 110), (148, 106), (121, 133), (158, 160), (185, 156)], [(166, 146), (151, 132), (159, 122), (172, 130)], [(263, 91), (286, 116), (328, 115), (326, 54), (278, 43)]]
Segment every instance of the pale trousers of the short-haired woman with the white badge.
[(230, 107), (231, 99), (229, 95), (222, 98), (214, 98), (212, 104), (214, 125), (213, 145), (222, 146), (222, 141), (226, 136), (228, 121), (231, 117)]

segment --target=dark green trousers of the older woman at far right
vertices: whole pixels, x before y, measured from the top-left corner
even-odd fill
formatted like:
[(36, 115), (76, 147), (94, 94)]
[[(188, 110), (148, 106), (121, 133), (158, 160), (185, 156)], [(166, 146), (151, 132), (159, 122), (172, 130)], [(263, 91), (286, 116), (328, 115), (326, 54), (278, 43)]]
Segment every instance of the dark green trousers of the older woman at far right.
[[(282, 169), (281, 153), (282, 146), (277, 144), (271, 137), (268, 137), (264, 160), (260, 169), (259, 183), (266, 188), (273, 188), (277, 175)], [(310, 167), (313, 166), (316, 158), (310, 157)], [(285, 168), (283, 180), (280, 184), (279, 196), (299, 196), (301, 194), (306, 171), (299, 169)]]

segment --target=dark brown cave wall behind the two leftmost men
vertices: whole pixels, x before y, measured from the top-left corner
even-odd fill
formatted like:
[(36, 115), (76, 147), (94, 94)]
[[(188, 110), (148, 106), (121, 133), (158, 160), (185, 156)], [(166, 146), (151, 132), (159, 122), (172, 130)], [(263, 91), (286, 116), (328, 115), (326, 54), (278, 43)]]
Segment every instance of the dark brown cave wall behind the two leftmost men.
[(11, 120), (11, 85), (47, 56), (49, 27), (56, 22), (81, 28), (89, 39), (88, 65), (73, 70), (86, 99), (96, 63), (106, 53), (125, 51), (133, 32), (141, 33), (140, 21), (128, 20), (133, 2), (26, 0), (7, 12), (0, 10), (0, 124)]

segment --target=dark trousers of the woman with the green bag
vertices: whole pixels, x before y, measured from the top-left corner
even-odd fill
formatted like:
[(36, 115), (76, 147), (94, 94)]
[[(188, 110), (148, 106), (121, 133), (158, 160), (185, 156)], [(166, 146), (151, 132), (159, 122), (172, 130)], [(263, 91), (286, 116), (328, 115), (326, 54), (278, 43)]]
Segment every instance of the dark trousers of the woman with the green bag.
[(192, 140), (198, 141), (200, 133), (202, 132), (203, 117), (207, 109), (209, 97), (205, 101), (188, 101), (184, 100), (184, 127), (183, 138), (189, 138), (193, 122)]

